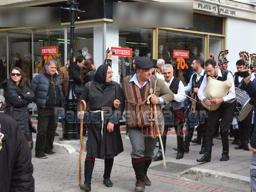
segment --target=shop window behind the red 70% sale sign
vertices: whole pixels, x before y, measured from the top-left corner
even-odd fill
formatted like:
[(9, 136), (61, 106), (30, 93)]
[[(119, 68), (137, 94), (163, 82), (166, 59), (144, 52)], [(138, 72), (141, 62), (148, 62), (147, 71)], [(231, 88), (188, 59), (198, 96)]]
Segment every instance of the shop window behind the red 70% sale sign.
[[(188, 69), (177, 69), (177, 58), (173, 57), (173, 50), (189, 51), (189, 59), (185, 59)], [(166, 64), (172, 64), (174, 75), (188, 83), (192, 75), (192, 58), (204, 57), (204, 35), (195, 35), (184, 32), (174, 32), (167, 30), (158, 31), (158, 58), (165, 60)]]

